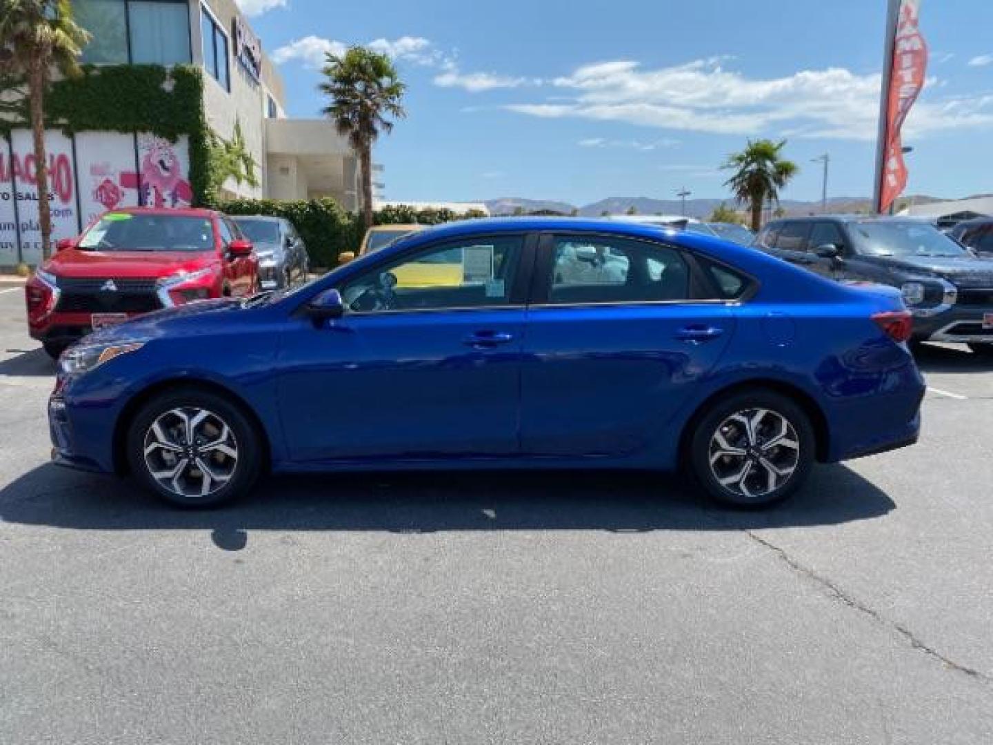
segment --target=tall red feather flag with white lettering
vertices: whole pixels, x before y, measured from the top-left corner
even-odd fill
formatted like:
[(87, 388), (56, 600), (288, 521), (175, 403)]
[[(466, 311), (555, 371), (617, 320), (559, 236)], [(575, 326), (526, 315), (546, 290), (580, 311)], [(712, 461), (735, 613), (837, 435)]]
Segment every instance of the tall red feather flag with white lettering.
[(890, 59), (890, 89), (886, 107), (883, 168), (878, 185), (880, 213), (889, 212), (907, 188), (907, 164), (900, 131), (924, 86), (927, 72), (927, 44), (921, 35), (921, 0), (901, 0), (897, 29)]

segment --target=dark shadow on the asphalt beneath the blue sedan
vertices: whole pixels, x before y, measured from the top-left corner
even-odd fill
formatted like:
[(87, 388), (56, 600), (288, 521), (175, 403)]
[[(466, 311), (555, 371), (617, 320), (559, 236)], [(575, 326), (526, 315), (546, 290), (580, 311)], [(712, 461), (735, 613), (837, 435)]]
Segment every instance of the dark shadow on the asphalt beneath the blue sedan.
[(88, 530), (209, 529), (239, 550), (253, 530), (743, 530), (832, 525), (895, 509), (845, 466), (817, 466), (766, 511), (705, 503), (674, 477), (632, 472), (433, 472), (267, 479), (211, 511), (168, 507), (128, 481), (46, 465), (0, 490), (0, 521)]

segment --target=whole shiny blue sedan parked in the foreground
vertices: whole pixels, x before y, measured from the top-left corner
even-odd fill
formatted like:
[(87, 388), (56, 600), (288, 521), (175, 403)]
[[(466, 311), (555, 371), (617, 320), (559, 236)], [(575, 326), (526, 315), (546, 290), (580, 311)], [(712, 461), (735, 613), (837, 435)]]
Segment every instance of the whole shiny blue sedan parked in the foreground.
[(264, 472), (683, 469), (767, 505), (918, 438), (899, 291), (651, 225), (470, 221), (85, 337), (56, 462), (206, 506)]

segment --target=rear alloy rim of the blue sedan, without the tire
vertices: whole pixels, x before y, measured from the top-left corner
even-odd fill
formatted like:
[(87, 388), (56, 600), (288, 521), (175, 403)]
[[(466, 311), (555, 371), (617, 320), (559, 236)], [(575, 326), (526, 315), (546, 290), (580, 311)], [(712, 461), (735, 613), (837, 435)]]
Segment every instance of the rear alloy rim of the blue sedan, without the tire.
[(767, 497), (796, 471), (800, 444), (792, 423), (769, 408), (743, 409), (728, 416), (710, 440), (714, 479), (730, 494)]

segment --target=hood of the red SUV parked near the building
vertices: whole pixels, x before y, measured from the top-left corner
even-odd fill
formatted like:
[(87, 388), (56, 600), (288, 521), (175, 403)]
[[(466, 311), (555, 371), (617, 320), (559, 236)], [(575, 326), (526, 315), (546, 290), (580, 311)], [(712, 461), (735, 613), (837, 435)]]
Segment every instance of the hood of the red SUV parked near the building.
[(220, 259), (212, 251), (80, 251), (70, 248), (49, 259), (45, 269), (62, 277), (166, 277), (196, 271)]

